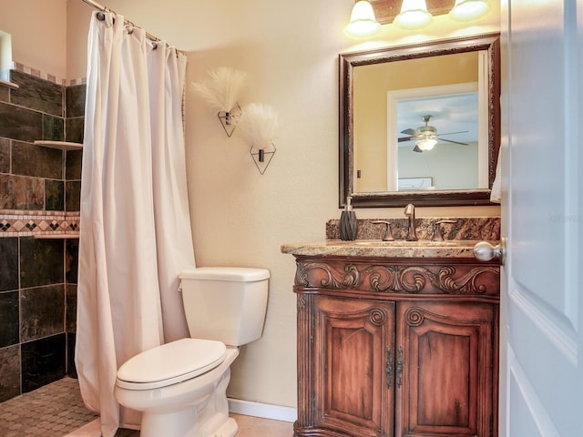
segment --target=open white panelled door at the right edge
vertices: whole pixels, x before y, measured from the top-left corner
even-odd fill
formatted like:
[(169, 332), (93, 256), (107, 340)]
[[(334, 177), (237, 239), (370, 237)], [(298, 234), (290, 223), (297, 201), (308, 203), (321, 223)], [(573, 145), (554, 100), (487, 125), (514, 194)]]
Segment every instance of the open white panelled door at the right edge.
[(583, 0), (502, 0), (500, 436), (583, 437)]

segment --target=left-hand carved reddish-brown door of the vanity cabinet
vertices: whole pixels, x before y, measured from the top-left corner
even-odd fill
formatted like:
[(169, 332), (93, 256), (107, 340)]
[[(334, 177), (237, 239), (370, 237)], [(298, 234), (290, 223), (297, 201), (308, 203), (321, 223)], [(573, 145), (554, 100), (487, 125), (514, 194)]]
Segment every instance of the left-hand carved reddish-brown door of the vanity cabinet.
[(319, 296), (313, 308), (314, 424), (331, 432), (313, 435), (393, 436), (394, 302)]

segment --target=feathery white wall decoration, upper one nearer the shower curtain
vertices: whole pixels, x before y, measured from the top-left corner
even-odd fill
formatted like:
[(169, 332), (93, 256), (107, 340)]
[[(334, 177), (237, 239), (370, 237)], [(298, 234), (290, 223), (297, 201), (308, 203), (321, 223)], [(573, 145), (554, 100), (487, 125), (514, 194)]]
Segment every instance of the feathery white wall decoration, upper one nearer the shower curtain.
[(238, 102), (247, 86), (247, 73), (221, 67), (211, 70), (209, 76), (209, 80), (193, 83), (192, 86), (200, 97), (218, 110), (220, 124), (227, 137), (230, 137), (241, 117), (242, 111)]

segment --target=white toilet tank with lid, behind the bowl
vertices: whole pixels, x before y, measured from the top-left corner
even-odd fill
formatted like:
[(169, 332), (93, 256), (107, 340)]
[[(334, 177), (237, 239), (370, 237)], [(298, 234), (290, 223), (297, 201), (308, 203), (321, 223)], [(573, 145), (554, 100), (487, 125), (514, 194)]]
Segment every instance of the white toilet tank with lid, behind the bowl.
[(179, 274), (190, 337), (241, 346), (261, 337), (270, 271), (199, 267)]

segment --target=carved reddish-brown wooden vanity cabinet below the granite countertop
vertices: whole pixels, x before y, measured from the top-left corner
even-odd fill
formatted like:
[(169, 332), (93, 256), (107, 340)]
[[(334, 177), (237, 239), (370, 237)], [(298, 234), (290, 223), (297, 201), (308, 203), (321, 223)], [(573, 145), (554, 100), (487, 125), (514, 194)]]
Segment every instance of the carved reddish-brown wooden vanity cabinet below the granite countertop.
[(296, 259), (294, 436), (496, 437), (495, 264)]

